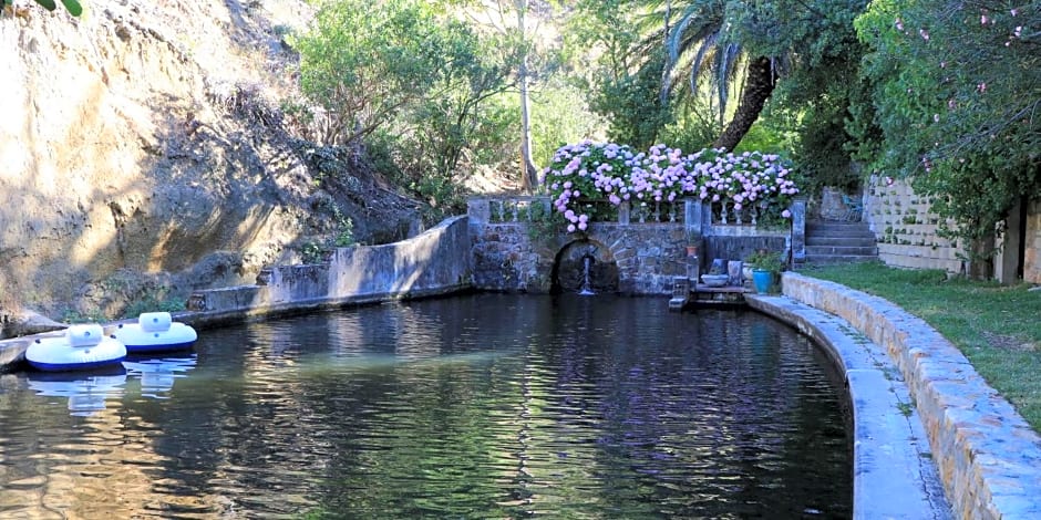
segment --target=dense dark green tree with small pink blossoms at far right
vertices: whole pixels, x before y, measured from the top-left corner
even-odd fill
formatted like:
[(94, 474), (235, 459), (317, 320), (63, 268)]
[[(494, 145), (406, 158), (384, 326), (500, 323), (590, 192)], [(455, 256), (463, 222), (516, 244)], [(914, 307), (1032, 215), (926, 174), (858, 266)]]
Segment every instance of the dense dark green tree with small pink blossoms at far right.
[(855, 124), (879, 128), (862, 149), (934, 196), (976, 260), (1016, 202), (1041, 197), (1039, 28), (1037, 1), (876, 1), (857, 20), (875, 110)]

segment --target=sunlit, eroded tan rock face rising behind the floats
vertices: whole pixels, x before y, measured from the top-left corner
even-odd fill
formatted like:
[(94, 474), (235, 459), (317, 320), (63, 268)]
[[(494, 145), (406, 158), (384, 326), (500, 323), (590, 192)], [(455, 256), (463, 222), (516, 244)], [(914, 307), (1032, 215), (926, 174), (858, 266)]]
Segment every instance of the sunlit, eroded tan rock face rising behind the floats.
[(0, 299), (112, 313), (121, 292), (250, 283), (328, 227), (275, 108), (292, 55), (274, 28), (305, 2), (85, 7), (0, 17)]

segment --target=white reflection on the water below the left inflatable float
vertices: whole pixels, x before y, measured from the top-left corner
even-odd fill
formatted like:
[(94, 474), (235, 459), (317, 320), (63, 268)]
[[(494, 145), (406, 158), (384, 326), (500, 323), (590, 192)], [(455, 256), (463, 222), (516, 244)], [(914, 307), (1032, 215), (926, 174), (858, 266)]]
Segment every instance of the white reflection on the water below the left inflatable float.
[(122, 367), (84, 375), (75, 372), (33, 372), (27, 376), (37, 395), (64, 397), (70, 415), (89, 417), (104, 410), (110, 399), (123, 395), (126, 372)]

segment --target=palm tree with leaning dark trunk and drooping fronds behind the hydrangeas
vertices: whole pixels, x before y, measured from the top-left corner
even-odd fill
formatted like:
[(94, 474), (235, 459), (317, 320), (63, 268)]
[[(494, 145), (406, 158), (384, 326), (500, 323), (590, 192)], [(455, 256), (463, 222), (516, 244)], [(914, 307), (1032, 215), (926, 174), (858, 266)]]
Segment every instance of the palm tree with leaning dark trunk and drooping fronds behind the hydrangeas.
[(779, 80), (805, 74), (805, 71), (827, 70), (837, 59), (848, 55), (851, 42), (855, 43), (852, 21), (865, 3), (863, 0), (669, 1), (661, 15), (668, 20), (674, 11), (674, 22), (663, 25), (663, 34), (652, 32), (648, 37), (652, 41), (659, 38), (666, 41), (668, 62), (662, 94), (668, 95), (687, 83), (689, 89), (679, 94), (699, 95), (702, 82), (708, 82), (719, 102), (722, 126), (729, 93), (743, 82), (736, 111), (713, 144), (734, 149), (759, 118)]

